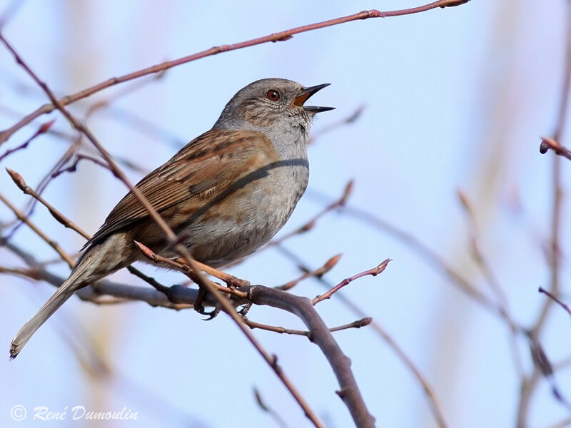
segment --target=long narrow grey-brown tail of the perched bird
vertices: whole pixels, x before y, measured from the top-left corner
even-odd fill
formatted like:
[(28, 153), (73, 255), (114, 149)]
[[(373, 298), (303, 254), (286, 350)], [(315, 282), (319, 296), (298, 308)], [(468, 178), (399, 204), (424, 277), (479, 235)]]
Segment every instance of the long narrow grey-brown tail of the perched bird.
[[(87, 256), (87, 257), (86, 257)], [(71, 271), (68, 279), (66, 279), (54, 292), (54, 294), (49, 298), (49, 300), (41, 307), (34, 317), (21, 327), (20, 331), (16, 333), (14, 339), (12, 339), (12, 344), (10, 346), (10, 359), (13, 360), (22, 350), (26, 342), (30, 340), (30, 337), (34, 335), (36, 330), (41, 327), (46, 320), (51, 317), (51, 315), (58, 310), (58, 308), (63, 305), (66, 300), (69, 299), (76, 290), (81, 287), (89, 285), (91, 282), (98, 280), (98, 277), (94, 277), (92, 269), (90, 266), (94, 258), (89, 253), (84, 254), (84, 257), (78, 260), (76, 267)], [(103, 275), (101, 275), (103, 276)]]

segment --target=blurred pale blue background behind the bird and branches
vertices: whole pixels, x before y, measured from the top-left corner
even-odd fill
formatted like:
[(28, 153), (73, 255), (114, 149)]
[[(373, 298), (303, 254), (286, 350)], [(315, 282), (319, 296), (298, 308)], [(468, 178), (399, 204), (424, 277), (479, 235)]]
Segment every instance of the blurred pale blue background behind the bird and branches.
[[(20, 4), (21, 3), (21, 4)], [(265, 36), (363, 9), (387, 11), (422, 1), (4, 1), (2, 29), (31, 68), (64, 96), (113, 76), (180, 58), (211, 46)], [(423, 14), (355, 21), (298, 34), (285, 42), (231, 51), (108, 88), (70, 106), (84, 118), (113, 156), (144, 170), (160, 165), (218, 118), (238, 89), (266, 77), (306, 86), (331, 83), (315, 104), (335, 106), (323, 113), (310, 146), (310, 184), (281, 235), (294, 230), (338, 198), (348, 180), (355, 189), (351, 210), (321, 218), (315, 228), (286, 240), (284, 248), (309, 267), (337, 253), (338, 265), (325, 275), (335, 284), (345, 277), (393, 261), (378, 277), (363, 277), (343, 290), (402, 348), (433, 388), (450, 427), (565, 426), (570, 409), (555, 399), (552, 384), (538, 379), (529, 404), (520, 409), (522, 374), (534, 370), (529, 342), (510, 334), (506, 322), (486, 310), (443, 274), (434, 260), (395, 233), (355, 218), (355, 209), (403, 230), (492, 301), (485, 270), (473, 257), (473, 226), (458, 198), (470, 200), (478, 246), (505, 293), (512, 319), (532, 327), (549, 287), (546, 249), (552, 228), (550, 153), (540, 155), (540, 136), (550, 136), (562, 95), (566, 39), (563, 0), (477, 0)], [(156, 76), (155, 76), (156, 77)], [(0, 129), (46, 103), (44, 93), (0, 49)], [(93, 110), (96, 103), (106, 103)], [(332, 123), (363, 113), (346, 126)], [(69, 148), (76, 134), (57, 112), (39, 119), (0, 147), (26, 141), (41, 123), (55, 118), (46, 134), (1, 161), (36, 187)], [(565, 138), (563, 144), (570, 145)], [(81, 151), (93, 153), (86, 144)], [(560, 285), (569, 302), (571, 163), (562, 159)], [(126, 168), (132, 180), (143, 170)], [(1, 193), (20, 208), (23, 195), (0, 173)], [(46, 187), (44, 197), (88, 233), (94, 233), (126, 188), (89, 161)], [(31, 216), (71, 254), (84, 239), (63, 228), (42, 206)], [(0, 206), (2, 235), (14, 215)], [(44, 241), (21, 227), (11, 240), (39, 260), (57, 259)], [(0, 248), (0, 265), (21, 260)], [(141, 269), (165, 284), (181, 275)], [(49, 265), (67, 275), (64, 263)], [(253, 255), (229, 270), (268, 286), (300, 274), (297, 263), (276, 248)], [(113, 280), (141, 285), (128, 272)], [(307, 280), (292, 292), (314, 297), (323, 285)], [(0, 424), (31, 424), (34, 407), (63, 412), (76, 405), (92, 411), (137, 412), (136, 421), (91, 422), (120, 427), (278, 426), (258, 406), (256, 387), (289, 427), (305, 427), (292, 397), (226, 315), (203, 322), (193, 310), (153, 308), (142, 302), (97, 306), (71, 299), (9, 362), (11, 338), (51, 295), (44, 282), (0, 277)], [(331, 327), (360, 318), (338, 298), (318, 305)], [(253, 307), (251, 320), (303, 328), (297, 318)], [(560, 392), (571, 398), (571, 324), (561, 307), (550, 310), (541, 343), (562, 368)], [(328, 427), (350, 427), (348, 410), (335, 394), (338, 383), (323, 354), (303, 337), (255, 330)], [(438, 426), (423, 388), (391, 347), (373, 330), (344, 330), (335, 338), (353, 362), (353, 371), (379, 427)], [(515, 344), (514, 344), (515, 342)], [(514, 351), (515, 347), (515, 351)], [(516, 355), (516, 357), (514, 356)], [(519, 355), (519, 357), (517, 357)], [(520, 361), (520, 364), (517, 363)], [(519, 365), (521, 367), (519, 367)], [(23, 405), (29, 415), (14, 422), (10, 410)], [(36, 421), (36, 423), (39, 423)], [(77, 423), (77, 422), (76, 422)], [(87, 423), (85, 420), (83, 423)], [(58, 426), (74, 424), (68, 418)]]

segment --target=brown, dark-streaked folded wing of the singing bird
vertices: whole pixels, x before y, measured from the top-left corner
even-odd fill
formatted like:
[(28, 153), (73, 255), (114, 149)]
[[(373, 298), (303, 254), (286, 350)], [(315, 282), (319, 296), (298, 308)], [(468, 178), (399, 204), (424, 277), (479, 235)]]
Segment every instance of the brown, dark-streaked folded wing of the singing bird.
[[(146, 175), (136, 188), (159, 213), (189, 198), (196, 199), (196, 204), (190, 205), (198, 210), (212, 193), (220, 193), (241, 176), (275, 161), (278, 161), (276, 150), (261, 132), (211, 130)], [(147, 210), (129, 192), (84, 248), (147, 217)]]

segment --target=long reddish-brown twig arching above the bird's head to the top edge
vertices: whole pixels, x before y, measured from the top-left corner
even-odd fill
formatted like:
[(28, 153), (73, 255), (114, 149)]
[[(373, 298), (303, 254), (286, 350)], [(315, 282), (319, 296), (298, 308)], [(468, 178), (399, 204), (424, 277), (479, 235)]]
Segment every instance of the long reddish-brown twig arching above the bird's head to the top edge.
[[(445, 7), (452, 7), (452, 6), (460, 6), (461, 4), (468, 3), (469, 0), (439, 0), (434, 1), (430, 4), (425, 4), (424, 6), (413, 7), (410, 9), (400, 9), (397, 11), (378, 11), (378, 10), (370, 10), (370, 11), (362, 11), (358, 14), (343, 16), (340, 18), (329, 19), (328, 21), (322, 21), (315, 24), (309, 24), (305, 26), (296, 27), (294, 29), (289, 29), (285, 31), (279, 31), (278, 33), (269, 34), (268, 36), (258, 37), (257, 39), (251, 39), (248, 41), (242, 41), (236, 44), (226, 44), (221, 46), (214, 46), (211, 49), (207, 49), (206, 51), (201, 51), (193, 55), (184, 56), (183, 58), (178, 58), (173, 61), (166, 61), (156, 66), (151, 66), (148, 68), (143, 68), (142, 70), (135, 71), (133, 73), (128, 73), (123, 76), (109, 78), (106, 81), (98, 83), (95, 86), (91, 86), (90, 88), (86, 88), (83, 91), (79, 91), (74, 93), (73, 95), (64, 96), (63, 98), (59, 99), (60, 106), (67, 106), (68, 104), (74, 103), (75, 101), (81, 100), (82, 98), (86, 98), (88, 96), (93, 95), (98, 91), (102, 91), (109, 86), (116, 85), (118, 83), (123, 83), (125, 81), (130, 81), (133, 78), (140, 78), (142, 76), (146, 76), (152, 73), (158, 73), (160, 71), (166, 71), (169, 68), (173, 68), (175, 66), (180, 66), (183, 63), (188, 63), (191, 61), (196, 61), (197, 59), (204, 58), (206, 56), (220, 54), (221, 52), (228, 52), (228, 51), (235, 51), (236, 49), (243, 49), (248, 48), (250, 46), (256, 46), (258, 44), (264, 44), (268, 42), (276, 42), (276, 41), (286, 41), (293, 37), (295, 34), (304, 33), (305, 31), (313, 31), (316, 29), (323, 29), (328, 26), (334, 26), (339, 24), (345, 24), (346, 22), (350, 21), (358, 21), (361, 19), (370, 19), (370, 18), (387, 18), (389, 16), (403, 16), (403, 15), (410, 15), (410, 14), (418, 14), (420, 12), (425, 12), (430, 9), (435, 9), (438, 7), (445, 8)], [(10, 136), (18, 131), (20, 128), (26, 126), (28, 123), (33, 121), (35, 118), (41, 116), (45, 113), (51, 113), (52, 111), (56, 110), (58, 104), (54, 103), (53, 101), (48, 104), (44, 104), (36, 111), (30, 113), (28, 116), (22, 118), (18, 123), (11, 128), (8, 128), (2, 132), (0, 132), (0, 145), (4, 143), (4, 141), (8, 140)]]

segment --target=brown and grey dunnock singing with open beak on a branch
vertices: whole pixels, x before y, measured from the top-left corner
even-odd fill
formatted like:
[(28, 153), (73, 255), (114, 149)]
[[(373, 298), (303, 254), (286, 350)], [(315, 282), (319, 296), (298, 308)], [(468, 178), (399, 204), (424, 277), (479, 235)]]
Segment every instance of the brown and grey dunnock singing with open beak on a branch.
[[(256, 251), (285, 224), (308, 184), (313, 116), (332, 110), (303, 103), (325, 86), (304, 88), (281, 78), (250, 83), (210, 131), (136, 185), (193, 258), (226, 265)], [(67, 280), (16, 334), (11, 358), (76, 290), (146, 260), (133, 241), (165, 257), (176, 255), (130, 192), (86, 243)]]

